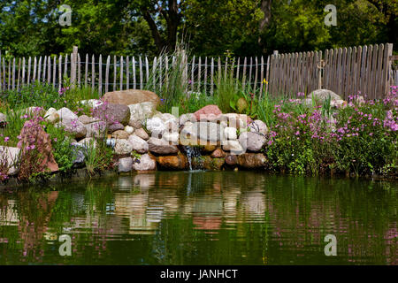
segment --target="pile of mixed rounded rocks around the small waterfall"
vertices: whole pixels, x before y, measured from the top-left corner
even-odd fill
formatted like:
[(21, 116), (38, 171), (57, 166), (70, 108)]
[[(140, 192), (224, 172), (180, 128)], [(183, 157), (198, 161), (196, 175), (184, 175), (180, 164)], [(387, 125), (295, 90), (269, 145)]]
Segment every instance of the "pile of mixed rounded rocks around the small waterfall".
[[(119, 172), (186, 170), (189, 168), (184, 146), (199, 147), (204, 169), (225, 167), (260, 168), (267, 126), (247, 115), (226, 113), (208, 105), (195, 113), (175, 117), (157, 111), (159, 97), (145, 90), (107, 93), (101, 100), (80, 102), (89, 105), (92, 115), (80, 115), (64, 107), (50, 108), (42, 117), (62, 126), (73, 135), (79, 151), (76, 163), (84, 162), (83, 148), (96, 139), (112, 141), (119, 157)], [(6, 120), (0, 116), (1, 120)], [(1, 147), (4, 156), (15, 157), (19, 149)], [(10, 173), (18, 170), (11, 167)]]

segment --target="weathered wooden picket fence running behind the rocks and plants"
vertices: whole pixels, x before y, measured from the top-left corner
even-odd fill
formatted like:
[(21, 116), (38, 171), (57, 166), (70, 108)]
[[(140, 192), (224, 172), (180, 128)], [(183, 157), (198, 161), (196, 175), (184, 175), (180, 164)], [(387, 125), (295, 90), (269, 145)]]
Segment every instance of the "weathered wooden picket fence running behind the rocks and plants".
[[(241, 88), (264, 96), (295, 97), (327, 88), (347, 99), (358, 92), (368, 98), (382, 98), (396, 84), (392, 71), (393, 44), (340, 48), (335, 50), (274, 54), (266, 57), (186, 58), (187, 91), (213, 95), (222, 76), (241, 81)], [(42, 81), (62, 88), (84, 86), (102, 96), (113, 90), (161, 87), (173, 57), (129, 57), (73, 53), (57, 57), (2, 57), (0, 52), (0, 90), (19, 89)], [(162, 73), (161, 70), (165, 70)], [(265, 81), (264, 81), (265, 80)], [(248, 88), (249, 87), (249, 88)], [(158, 89), (158, 88), (157, 88)]]

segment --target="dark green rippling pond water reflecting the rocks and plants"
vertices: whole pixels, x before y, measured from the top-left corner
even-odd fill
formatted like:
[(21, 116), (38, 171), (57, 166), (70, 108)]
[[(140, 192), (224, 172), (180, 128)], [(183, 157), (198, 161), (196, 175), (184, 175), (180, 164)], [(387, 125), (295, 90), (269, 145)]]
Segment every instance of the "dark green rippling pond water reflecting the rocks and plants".
[[(398, 264), (396, 182), (156, 172), (0, 193), (0, 264)], [(60, 256), (60, 235), (72, 256)], [(337, 256), (325, 256), (325, 235)], [(65, 242), (66, 243), (66, 242)]]

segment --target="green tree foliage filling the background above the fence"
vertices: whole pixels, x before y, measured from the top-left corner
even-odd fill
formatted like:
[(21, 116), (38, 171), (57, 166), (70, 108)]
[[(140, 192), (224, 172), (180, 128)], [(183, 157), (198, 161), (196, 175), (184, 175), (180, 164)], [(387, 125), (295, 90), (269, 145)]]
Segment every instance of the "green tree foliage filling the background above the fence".
[[(72, 8), (62, 27), (61, 4)], [(326, 4), (337, 26), (326, 27)], [(184, 38), (197, 56), (254, 56), (397, 42), (395, 0), (0, 0), (2, 54), (155, 56)]]

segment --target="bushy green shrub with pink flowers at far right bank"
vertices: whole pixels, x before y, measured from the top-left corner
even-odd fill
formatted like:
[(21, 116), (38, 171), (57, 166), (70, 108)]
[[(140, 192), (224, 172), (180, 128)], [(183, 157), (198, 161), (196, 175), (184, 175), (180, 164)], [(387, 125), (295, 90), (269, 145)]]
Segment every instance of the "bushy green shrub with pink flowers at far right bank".
[(342, 109), (337, 116), (334, 151), (341, 171), (382, 173), (397, 164), (397, 112), (386, 111), (383, 103), (368, 102)]

